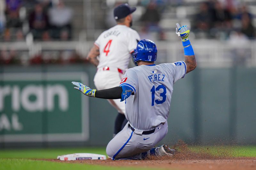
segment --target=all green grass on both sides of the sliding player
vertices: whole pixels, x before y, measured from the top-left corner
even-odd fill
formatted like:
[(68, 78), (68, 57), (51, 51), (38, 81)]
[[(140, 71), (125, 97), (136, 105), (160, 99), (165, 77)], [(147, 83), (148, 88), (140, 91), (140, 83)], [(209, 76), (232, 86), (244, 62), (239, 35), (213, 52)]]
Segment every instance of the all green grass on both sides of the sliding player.
[[(256, 157), (256, 146), (189, 146), (195, 152), (208, 152), (217, 156), (233, 156), (233, 157)], [(208, 149), (207, 149), (208, 148)], [(0, 150), (0, 170), (2, 169), (124, 169), (130, 170), (131, 167), (113, 167), (113, 166), (100, 166), (100, 165), (87, 165), (79, 163), (59, 163), (43, 160), (30, 160), (30, 159), (57, 159), (58, 155), (70, 153), (98, 153), (106, 155), (105, 147), (90, 147), (90, 148), (51, 148), (51, 149), (4, 149)], [(150, 168), (134, 168), (133, 170), (149, 170)], [(152, 168), (156, 170), (159, 168)]]

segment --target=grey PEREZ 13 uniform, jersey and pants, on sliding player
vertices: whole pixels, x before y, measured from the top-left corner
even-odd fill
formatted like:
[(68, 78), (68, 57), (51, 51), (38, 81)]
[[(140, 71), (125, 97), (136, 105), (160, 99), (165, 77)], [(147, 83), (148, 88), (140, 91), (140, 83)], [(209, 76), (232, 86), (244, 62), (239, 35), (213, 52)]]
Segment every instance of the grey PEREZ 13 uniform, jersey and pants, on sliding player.
[(186, 74), (184, 61), (141, 65), (124, 74), (120, 86), (135, 93), (125, 102), (128, 123), (109, 143), (106, 152), (115, 159), (141, 159), (167, 131), (173, 84)]

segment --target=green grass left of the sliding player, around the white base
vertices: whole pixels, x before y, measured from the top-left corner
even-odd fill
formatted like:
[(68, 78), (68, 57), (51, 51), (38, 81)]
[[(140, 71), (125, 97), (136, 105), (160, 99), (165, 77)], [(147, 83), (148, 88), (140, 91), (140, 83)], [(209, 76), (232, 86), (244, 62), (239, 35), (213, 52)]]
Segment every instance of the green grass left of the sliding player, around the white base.
[[(6, 149), (0, 150), (0, 170), (2, 169), (36, 169), (36, 170), (45, 170), (45, 169), (84, 169), (84, 170), (117, 170), (124, 169), (130, 170), (131, 167), (113, 167), (113, 166), (100, 166), (100, 165), (88, 165), (88, 164), (79, 164), (79, 163), (60, 163), (60, 162), (50, 162), (43, 160), (29, 160), (29, 159), (57, 159), (58, 155), (70, 154), (70, 153), (97, 153), (97, 154), (106, 154), (105, 147), (97, 148), (51, 148), (51, 149)], [(134, 168), (133, 170), (156, 170), (156, 168)]]

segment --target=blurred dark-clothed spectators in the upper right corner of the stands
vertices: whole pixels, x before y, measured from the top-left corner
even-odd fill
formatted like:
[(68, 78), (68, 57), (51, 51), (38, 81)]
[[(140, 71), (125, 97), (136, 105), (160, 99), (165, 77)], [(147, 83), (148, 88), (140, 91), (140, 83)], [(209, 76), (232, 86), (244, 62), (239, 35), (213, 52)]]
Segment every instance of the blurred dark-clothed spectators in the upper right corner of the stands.
[(234, 0), (211, 0), (200, 4), (192, 28), (200, 38), (241, 36), (253, 39), (256, 36), (253, 18), (245, 4)]

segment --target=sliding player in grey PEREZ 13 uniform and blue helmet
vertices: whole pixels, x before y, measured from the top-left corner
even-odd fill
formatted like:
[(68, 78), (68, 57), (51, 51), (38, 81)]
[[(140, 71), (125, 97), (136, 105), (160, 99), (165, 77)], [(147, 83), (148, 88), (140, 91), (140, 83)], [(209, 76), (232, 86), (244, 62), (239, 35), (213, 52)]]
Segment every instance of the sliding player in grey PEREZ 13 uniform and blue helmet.
[(90, 89), (79, 82), (72, 82), (86, 96), (121, 99), (125, 101), (128, 123), (107, 146), (113, 159), (144, 159), (149, 155), (172, 156), (174, 149), (167, 145), (154, 147), (168, 131), (173, 84), (196, 68), (196, 58), (189, 41), (189, 28), (176, 24), (176, 33), (182, 40), (185, 61), (155, 65), (156, 44), (141, 40), (133, 53), (137, 67), (128, 69), (118, 87), (105, 90)]

